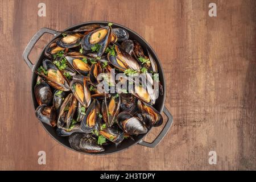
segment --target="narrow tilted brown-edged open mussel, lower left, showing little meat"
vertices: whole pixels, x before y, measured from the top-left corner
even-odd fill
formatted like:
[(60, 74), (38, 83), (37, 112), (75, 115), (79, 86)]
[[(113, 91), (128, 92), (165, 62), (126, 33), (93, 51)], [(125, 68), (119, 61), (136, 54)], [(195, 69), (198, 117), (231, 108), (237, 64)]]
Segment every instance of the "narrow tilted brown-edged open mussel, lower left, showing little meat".
[(59, 117), (57, 119), (57, 127), (69, 130), (69, 126), (74, 119), (73, 116), (75, 114), (76, 107), (76, 97), (70, 93), (63, 101), (63, 104), (60, 106)]

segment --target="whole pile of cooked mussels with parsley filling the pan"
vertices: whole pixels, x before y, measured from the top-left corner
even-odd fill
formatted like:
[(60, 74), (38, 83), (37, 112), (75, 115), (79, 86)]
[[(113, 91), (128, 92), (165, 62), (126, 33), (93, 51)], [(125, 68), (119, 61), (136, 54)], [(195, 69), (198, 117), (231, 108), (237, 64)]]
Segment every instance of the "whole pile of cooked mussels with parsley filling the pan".
[(129, 80), (137, 92), (111, 94), (97, 89), (100, 73), (114, 86), (109, 75), (115, 69), (130, 76), (144, 73), (151, 82), (158, 82), (157, 92), (163, 94), (154, 77), (158, 73), (155, 60), (123, 28), (113, 28), (112, 23), (89, 24), (65, 31), (44, 53), (46, 58), (36, 71), (36, 117), (56, 127), (57, 135), (69, 137), (74, 150), (102, 152), (112, 142), (133, 139), (162, 124), (162, 115), (153, 107), (155, 91), (143, 90), (140, 82)]

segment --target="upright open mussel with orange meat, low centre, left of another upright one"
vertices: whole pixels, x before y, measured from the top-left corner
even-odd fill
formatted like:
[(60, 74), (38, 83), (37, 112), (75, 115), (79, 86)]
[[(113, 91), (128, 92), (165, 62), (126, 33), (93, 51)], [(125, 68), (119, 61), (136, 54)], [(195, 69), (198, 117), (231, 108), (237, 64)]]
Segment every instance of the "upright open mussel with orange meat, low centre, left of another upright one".
[(100, 129), (100, 104), (97, 100), (93, 100), (85, 112), (85, 117), (81, 121), (81, 128), (85, 133), (91, 133), (94, 129)]

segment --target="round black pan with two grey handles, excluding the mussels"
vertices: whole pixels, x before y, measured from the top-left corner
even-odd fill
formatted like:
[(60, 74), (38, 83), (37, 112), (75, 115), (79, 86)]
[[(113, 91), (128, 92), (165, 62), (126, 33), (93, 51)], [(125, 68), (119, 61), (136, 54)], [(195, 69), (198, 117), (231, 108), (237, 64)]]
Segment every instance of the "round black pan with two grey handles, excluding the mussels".
[[(76, 28), (79, 28), (81, 26), (85, 26), (87, 24), (94, 24), (94, 23), (103, 24), (103, 25), (106, 26), (106, 25), (108, 25), (109, 22), (85, 22), (85, 23), (76, 24), (75, 26), (69, 27), (69, 28), (65, 29), (64, 31), (72, 31), (72, 30), (75, 30)], [(152, 56), (156, 60), (156, 62), (158, 64), (159, 80), (162, 82), (164, 94), (163, 94), (163, 96), (159, 96), (158, 100), (156, 100), (156, 103), (155, 103), (154, 107), (159, 112), (163, 111), (163, 113), (166, 114), (167, 122), (166, 122), (166, 125), (163, 127), (163, 130), (160, 132), (158, 137), (156, 137), (155, 140), (152, 143), (144, 142), (143, 138), (146, 136), (146, 134), (143, 134), (143, 135), (139, 135), (137, 137), (134, 137), (134, 140), (123, 140), (123, 142), (121, 144), (119, 144), (118, 147), (115, 147), (115, 144), (112, 144), (110, 146), (106, 146), (104, 152), (100, 152), (100, 153), (96, 153), (96, 154), (90, 154), (90, 155), (113, 154), (115, 152), (125, 150), (125, 149), (127, 149), (127, 148), (129, 148), (129, 147), (131, 147), (135, 144), (140, 144), (142, 146), (153, 148), (163, 139), (163, 137), (167, 134), (168, 130), (170, 129), (170, 127), (172, 125), (172, 115), (170, 114), (170, 112), (164, 106), (164, 101), (165, 101), (165, 98), (166, 98), (166, 82), (164, 80), (163, 68), (162, 68), (162, 65), (160, 64), (158, 56), (156, 56), (155, 51), (151, 48), (151, 46), (140, 35), (138, 35), (134, 31), (130, 30), (129, 28), (126, 28), (126, 27), (124, 27), (120, 24), (117, 24), (117, 23), (113, 23), (112, 27), (113, 28), (121, 27), (121, 28), (124, 28), (125, 30), (127, 30), (130, 34), (130, 39), (137, 40), (142, 45), (142, 47), (147, 48), (148, 51), (151, 52)], [(36, 84), (36, 77), (37, 77), (35, 71), (42, 64), (42, 61), (44, 59), (44, 49), (46, 47), (44, 47), (43, 51), (40, 53), (40, 55), (38, 57), (38, 60), (36, 60), (35, 64), (31, 63), (30, 59), (28, 59), (28, 56), (30, 55), (30, 52), (31, 52), (32, 48), (35, 46), (35, 43), (38, 42), (38, 40), (40, 39), (40, 37), (43, 34), (46, 34), (46, 33), (53, 35), (52, 40), (61, 36), (61, 32), (59, 32), (59, 31), (51, 30), (49, 28), (42, 28), (38, 32), (36, 32), (36, 34), (33, 36), (33, 38), (27, 44), (27, 47), (25, 48), (25, 50), (23, 52), (23, 59), (32, 71), (31, 96), (32, 96), (33, 104), (34, 104), (34, 109), (36, 109), (36, 107), (38, 107), (38, 103), (36, 102), (35, 95), (34, 95), (34, 85)], [(47, 131), (47, 133), (49, 135), (51, 135), (51, 137), (53, 139), (55, 139), (57, 142), (59, 142), (63, 146), (73, 150), (69, 145), (68, 137), (59, 137), (56, 134), (56, 131), (55, 131), (56, 129), (54, 129), (51, 126), (46, 125), (46, 123), (42, 123), (42, 122), (40, 122), (40, 123), (42, 124), (44, 129)], [(75, 150), (73, 150), (73, 151), (75, 151)], [(82, 154), (87, 154), (87, 153), (82, 153)]]

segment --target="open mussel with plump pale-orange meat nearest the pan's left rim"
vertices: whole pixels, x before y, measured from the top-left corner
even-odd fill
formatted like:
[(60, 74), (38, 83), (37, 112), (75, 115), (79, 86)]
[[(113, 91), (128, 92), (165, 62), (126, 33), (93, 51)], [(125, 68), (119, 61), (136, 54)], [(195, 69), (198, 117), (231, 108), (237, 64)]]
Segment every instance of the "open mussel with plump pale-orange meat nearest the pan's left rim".
[(48, 59), (43, 60), (43, 68), (46, 69), (47, 73), (38, 72), (36, 73), (42, 77), (44, 81), (55, 89), (69, 91), (69, 84), (67, 78), (61, 71)]

